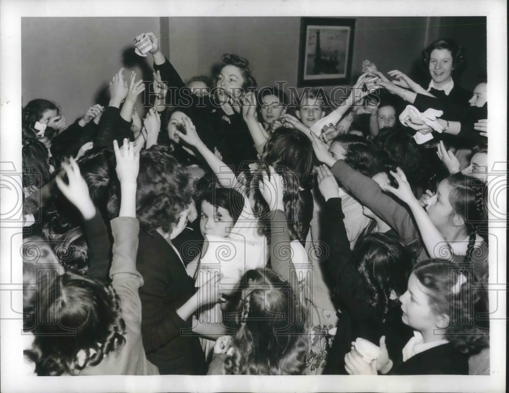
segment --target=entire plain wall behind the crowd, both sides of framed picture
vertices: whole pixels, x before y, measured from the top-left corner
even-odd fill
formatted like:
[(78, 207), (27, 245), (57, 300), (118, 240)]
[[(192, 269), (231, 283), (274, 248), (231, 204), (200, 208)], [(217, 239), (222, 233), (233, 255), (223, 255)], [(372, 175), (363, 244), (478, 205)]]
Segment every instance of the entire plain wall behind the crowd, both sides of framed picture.
[[(473, 89), (486, 70), (485, 18), (355, 19), (352, 82), (362, 61), (370, 59), (383, 72), (400, 69), (423, 83), (426, 74), (417, 66), (420, 51), (441, 36), (466, 47), (464, 87)], [(300, 17), (22, 18), (23, 104), (41, 97), (54, 100), (71, 122), (97, 102), (121, 66), (151, 80), (150, 57), (123, 55), (137, 34), (149, 31), (160, 35), (163, 52), (184, 80), (209, 74), (222, 54), (237, 53), (249, 60), (259, 86), (273, 86), (274, 81), (296, 86), (299, 30)]]

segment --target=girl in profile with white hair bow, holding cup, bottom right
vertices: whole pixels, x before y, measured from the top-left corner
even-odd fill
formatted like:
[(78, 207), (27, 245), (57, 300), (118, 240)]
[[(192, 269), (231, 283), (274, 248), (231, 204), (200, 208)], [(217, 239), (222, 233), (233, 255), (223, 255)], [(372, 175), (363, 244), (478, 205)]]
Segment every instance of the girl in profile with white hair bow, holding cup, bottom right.
[(468, 374), (468, 356), (487, 346), (488, 328), (479, 323), (479, 312), (487, 312), (486, 292), (475, 289), (475, 275), (468, 267), (437, 259), (420, 261), (400, 297), (403, 322), (414, 329), (414, 337), (401, 355), (389, 359), (380, 339), (380, 355), (371, 364), (356, 350), (345, 356), (349, 374)]

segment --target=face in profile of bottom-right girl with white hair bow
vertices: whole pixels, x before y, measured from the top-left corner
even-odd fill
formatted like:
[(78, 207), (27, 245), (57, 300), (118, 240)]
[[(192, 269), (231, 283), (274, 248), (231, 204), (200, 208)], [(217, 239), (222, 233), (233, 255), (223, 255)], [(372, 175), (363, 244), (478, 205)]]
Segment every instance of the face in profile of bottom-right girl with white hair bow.
[(408, 279), (407, 292), (400, 296), (403, 323), (420, 332), (437, 328), (437, 316), (430, 307), (429, 301), (425, 287), (412, 273)]

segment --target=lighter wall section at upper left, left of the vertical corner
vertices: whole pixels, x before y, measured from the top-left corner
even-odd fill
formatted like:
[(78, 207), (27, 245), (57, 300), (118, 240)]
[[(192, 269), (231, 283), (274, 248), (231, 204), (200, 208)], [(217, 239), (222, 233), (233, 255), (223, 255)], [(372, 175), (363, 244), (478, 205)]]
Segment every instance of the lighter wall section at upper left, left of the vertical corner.
[(137, 79), (150, 71), (123, 52), (138, 34), (160, 29), (159, 18), (22, 18), (21, 24), (23, 106), (34, 98), (55, 101), (68, 124), (97, 102), (123, 65)]

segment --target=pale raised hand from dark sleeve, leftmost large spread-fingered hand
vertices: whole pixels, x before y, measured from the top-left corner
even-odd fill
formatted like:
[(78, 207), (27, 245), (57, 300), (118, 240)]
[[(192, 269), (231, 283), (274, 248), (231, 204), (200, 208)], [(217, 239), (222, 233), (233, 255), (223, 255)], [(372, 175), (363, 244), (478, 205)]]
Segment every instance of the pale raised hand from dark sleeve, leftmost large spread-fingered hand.
[(69, 164), (62, 163), (62, 168), (67, 174), (69, 184), (65, 184), (60, 176), (56, 176), (56, 186), (58, 186), (62, 194), (76, 206), (84, 219), (91, 219), (95, 216), (95, 206), (90, 198), (89, 186), (81, 176), (76, 160), (71, 157)]

